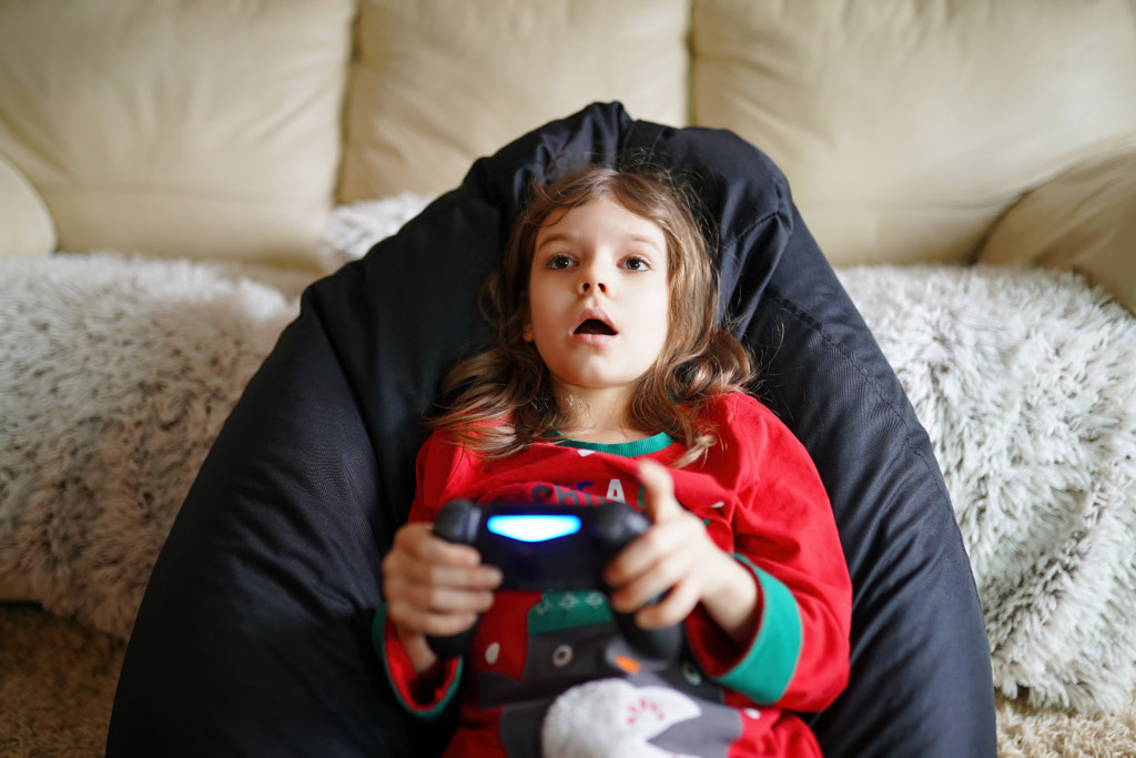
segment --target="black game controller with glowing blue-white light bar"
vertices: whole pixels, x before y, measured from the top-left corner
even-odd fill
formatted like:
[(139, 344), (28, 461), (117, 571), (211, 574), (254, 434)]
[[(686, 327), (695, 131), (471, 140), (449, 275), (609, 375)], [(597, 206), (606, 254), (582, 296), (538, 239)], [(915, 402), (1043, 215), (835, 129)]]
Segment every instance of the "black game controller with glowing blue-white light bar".
[[(502, 590), (608, 592), (604, 566), (650, 526), (644, 514), (623, 502), (478, 506), (453, 500), (438, 511), (434, 534), (477, 548), (482, 563), (501, 569)], [(644, 630), (632, 614), (615, 613), (615, 618), (632, 649), (648, 658), (677, 659), (683, 643), (680, 624)], [(476, 631), (475, 623), (459, 634), (426, 640), (438, 656), (457, 656), (469, 647)]]

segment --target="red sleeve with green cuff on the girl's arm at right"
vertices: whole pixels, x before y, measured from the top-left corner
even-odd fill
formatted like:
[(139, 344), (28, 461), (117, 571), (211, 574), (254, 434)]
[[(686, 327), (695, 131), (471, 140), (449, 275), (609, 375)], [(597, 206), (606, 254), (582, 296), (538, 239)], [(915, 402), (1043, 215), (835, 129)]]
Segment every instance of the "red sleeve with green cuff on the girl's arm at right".
[(687, 627), (707, 673), (760, 705), (822, 710), (847, 684), (852, 585), (832, 507), (803, 445), (769, 410), (738, 395), (718, 435), (737, 472), (734, 550), (760, 591), (754, 639), (722, 656), (705, 614)]

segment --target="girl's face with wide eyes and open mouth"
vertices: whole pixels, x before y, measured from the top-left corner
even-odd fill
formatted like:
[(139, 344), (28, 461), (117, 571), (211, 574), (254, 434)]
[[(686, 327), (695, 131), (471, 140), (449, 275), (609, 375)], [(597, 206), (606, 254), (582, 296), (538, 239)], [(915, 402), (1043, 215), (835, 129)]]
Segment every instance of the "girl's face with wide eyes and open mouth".
[(528, 303), (525, 339), (559, 389), (629, 393), (667, 340), (662, 230), (609, 198), (552, 214), (536, 234)]

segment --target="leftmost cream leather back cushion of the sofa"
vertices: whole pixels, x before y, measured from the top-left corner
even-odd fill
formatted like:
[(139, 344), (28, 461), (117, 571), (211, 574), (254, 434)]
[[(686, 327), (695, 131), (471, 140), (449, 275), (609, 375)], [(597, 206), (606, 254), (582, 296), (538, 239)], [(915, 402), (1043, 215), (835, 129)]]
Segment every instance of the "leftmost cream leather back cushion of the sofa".
[(311, 261), (352, 0), (0, 3), (0, 156), (59, 247)]

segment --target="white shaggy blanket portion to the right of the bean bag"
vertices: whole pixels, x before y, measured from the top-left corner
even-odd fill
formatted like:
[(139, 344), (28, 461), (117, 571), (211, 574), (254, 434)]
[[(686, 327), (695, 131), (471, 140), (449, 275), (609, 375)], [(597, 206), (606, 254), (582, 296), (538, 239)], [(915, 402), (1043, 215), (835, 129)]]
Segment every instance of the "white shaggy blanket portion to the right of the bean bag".
[(1136, 319), (1069, 272), (841, 273), (932, 438), (1009, 697), (1136, 685)]

